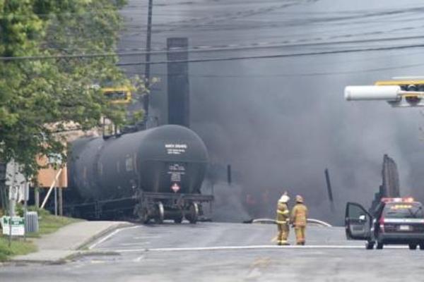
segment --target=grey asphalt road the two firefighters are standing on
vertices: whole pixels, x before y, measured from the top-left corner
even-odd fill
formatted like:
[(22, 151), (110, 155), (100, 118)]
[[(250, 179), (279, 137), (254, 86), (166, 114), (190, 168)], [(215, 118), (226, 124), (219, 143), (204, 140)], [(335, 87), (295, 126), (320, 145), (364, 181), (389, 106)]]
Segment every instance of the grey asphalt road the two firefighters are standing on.
[[(343, 228), (310, 227), (305, 247), (278, 247), (276, 226), (135, 226), (93, 244), (110, 255), (52, 266), (6, 266), (1, 281), (422, 281), (424, 252), (365, 250)], [(293, 234), (292, 234), (293, 235)], [(291, 238), (293, 242), (293, 238)]]

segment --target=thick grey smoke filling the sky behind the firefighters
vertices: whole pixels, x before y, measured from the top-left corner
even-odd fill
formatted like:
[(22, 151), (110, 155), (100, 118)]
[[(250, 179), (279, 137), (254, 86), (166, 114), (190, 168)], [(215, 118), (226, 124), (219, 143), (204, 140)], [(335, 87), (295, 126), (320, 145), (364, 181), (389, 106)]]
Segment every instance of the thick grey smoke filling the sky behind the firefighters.
[[(272, 205), (284, 190), (292, 198), (301, 194), (312, 217), (340, 223), (346, 202), (370, 205), (382, 181), (383, 154), (389, 154), (404, 195), (424, 201), (424, 116), (385, 102), (343, 99), (346, 85), (424, 75), (424, 48), (413, 47), (423, 44), (423, 1), (153, 2), (153, 48), (165, 48), (167, 37), (188, 37), (191, 47), (239, 47), (191, 53), (190, 59), (364, 50), (189, 63), (192, 129), (204, 139), (212, 162), (232, 164), (240, 173), (243, 190), (255, 197), (269, 190)], [(122, 11), (120, 49), (145, 47), (147, 3), (131, 0)], [(143, 74), (144, 66), (127, 71)], [(152, 93), (152, 113), (165, 123), (166, 66), (153, 66), (152, 72), (162, 79)], [(329, 212), (325, 168), (336, 214)]]

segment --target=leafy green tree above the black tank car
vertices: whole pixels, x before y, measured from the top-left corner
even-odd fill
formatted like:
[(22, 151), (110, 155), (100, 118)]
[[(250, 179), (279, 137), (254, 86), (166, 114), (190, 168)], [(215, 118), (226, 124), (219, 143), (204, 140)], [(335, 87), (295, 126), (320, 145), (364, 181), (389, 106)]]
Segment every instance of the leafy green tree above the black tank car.
[[(101, 116), (124, 122), (96, 85), (129, 85), (113, 53), (122, 27), (123, 0), (0, 0), (0, 159), (15, 159), (24, 173), (37, 156), (63, 152), (54, 134), (69, 122), (87, 130)], [(52, 59), (19, 59), (54, 56)], [(54, 124), (55, 126), (52, 126)]]

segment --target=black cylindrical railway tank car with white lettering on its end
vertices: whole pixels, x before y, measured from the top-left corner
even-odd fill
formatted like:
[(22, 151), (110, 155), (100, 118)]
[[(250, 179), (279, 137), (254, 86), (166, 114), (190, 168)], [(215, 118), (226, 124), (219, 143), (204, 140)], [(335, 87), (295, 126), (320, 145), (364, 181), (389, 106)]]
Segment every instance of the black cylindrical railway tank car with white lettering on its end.
[(143, 223), (196, 223), (202, 204), (213, 201), (201, 193), (206, 145), (181, 125), (80, 138), (71, 144), (67, 165), (64, 209), (74, 216), (102, 219), (126, 210)]

